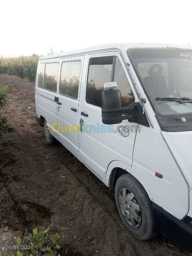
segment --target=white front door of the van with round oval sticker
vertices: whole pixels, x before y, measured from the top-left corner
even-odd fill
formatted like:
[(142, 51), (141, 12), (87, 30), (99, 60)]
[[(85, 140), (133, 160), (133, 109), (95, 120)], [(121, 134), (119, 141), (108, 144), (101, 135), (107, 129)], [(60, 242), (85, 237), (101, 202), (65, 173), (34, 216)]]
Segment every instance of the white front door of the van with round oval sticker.
[[(128, 73), (118, 53), (87, 56), (86, 86), (79, 102), (82, 132), (79, 153), (85, 166), (105, 179), (107, 167), (113, 160), (132, 165), (134, 141), (138, 124), (123, 120), (117, 125), (104, 125), (101, 118), (101, 93), (105, 82), (116, 82), (121, 92), (122, 107), (135, 101), (128, 82)], [(124, 68), (123, 68), (124, 67)], [(127, 76), (126, 76), (126, 74)]]

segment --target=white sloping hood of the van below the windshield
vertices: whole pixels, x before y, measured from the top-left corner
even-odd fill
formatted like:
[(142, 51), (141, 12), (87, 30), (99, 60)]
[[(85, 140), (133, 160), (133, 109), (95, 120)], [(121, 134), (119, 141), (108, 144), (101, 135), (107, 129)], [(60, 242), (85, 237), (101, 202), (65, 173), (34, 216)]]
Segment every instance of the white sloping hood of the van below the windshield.
[(162, 135), (192, 188), (192, 131), (162, 131)]

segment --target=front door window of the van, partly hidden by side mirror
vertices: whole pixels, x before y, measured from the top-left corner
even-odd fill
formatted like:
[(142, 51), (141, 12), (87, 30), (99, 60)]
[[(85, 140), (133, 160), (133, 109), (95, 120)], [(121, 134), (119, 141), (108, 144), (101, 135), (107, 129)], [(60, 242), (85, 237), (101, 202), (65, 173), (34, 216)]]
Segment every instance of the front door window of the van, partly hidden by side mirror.
[(86, 89), (87, 103), (101, 107), (101, 93), (106, 82), (117, 83), (117, 89), (121, 92), (122, 107), (128, 106), (135, 101), (134, 94), (118, 57), (90, 58)]

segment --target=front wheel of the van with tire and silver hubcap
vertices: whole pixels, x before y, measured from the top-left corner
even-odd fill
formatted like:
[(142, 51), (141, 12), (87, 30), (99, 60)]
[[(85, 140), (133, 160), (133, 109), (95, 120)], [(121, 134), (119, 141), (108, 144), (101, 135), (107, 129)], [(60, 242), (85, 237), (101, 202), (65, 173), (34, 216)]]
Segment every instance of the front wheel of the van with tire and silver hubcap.
[(119, 215), (132, 235), (147, 240), (157, 234), (151, 200), (134, 176), (128, 173), (119, 177), (115, 199)]

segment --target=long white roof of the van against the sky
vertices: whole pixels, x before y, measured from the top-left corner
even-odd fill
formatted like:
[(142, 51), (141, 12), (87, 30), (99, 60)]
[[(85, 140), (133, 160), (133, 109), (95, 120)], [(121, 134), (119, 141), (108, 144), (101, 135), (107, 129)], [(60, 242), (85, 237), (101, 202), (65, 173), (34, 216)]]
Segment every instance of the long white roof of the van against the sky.
[(83, 49), (73, 50), (70, 52), (57, 53), (52, 55), (42, 56), (39, 59), (52, 59), (62, 56), (78, 55), (82, 53), (95, 52), (99, 50), (119, 49), (120, 51), (126, 51), (129, 48), (175, 48), (175, 49), (189, 49), (192, 50), (190, 45), (177, 45), (177, 44), (156, 44), (156, 43), (113, 43), (102, 44)]

